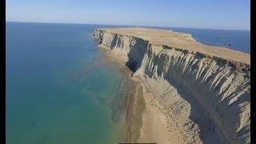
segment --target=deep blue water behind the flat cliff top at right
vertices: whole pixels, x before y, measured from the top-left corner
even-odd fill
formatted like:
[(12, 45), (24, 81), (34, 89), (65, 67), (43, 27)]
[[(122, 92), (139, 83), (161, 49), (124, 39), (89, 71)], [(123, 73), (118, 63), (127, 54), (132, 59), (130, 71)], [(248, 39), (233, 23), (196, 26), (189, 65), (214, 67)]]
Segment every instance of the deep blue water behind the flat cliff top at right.
[[(223, 46), (250, 54), (250, 30), (211, 30), (178, 27), (154, 27), (192, 34), (192, 37), (206, 45)], [(232, 46), (226, 45), (229, 42)]]

